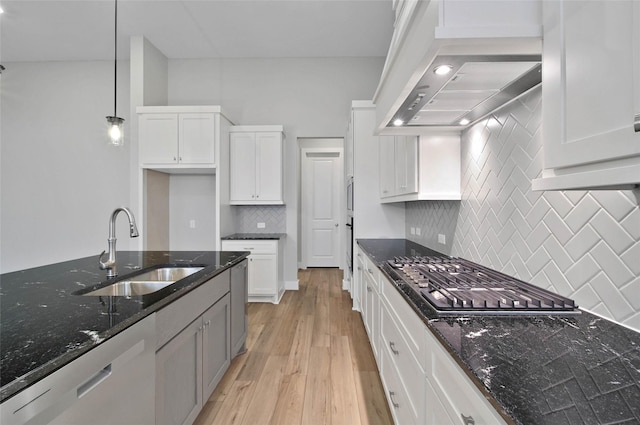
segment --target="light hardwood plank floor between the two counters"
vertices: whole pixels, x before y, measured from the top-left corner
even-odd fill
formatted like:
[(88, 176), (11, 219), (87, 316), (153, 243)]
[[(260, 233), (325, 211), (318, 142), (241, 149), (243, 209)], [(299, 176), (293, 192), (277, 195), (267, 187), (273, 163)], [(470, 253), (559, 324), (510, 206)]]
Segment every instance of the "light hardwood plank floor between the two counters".
[(299, 271), (278, 305), (249, 304), (236, 357), (195, 425), (393, 424), (360, 314), (339, 269)]

